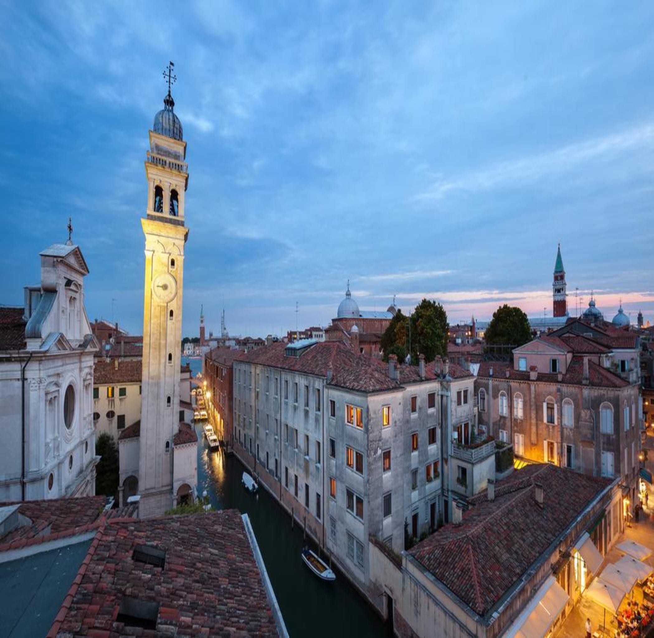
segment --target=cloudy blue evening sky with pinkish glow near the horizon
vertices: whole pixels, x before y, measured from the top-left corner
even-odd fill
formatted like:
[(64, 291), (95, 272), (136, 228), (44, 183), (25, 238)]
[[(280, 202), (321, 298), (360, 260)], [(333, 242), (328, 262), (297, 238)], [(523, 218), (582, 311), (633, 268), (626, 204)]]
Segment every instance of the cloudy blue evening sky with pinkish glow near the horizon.
[[(43, 248), (90, 320), (143, 331), (148, 129), (175, 62), (184, 335), (328, 325), (422, 297), (449, 321), (622, 299), (654, 322), (654, 4), (0, 0), (0, 302)], [(577, 290), (578, 289), (578, 290)], [(296, 303), (298, 311), (296, 313)], [(545, 310), (543, 310), (545, 309)]]

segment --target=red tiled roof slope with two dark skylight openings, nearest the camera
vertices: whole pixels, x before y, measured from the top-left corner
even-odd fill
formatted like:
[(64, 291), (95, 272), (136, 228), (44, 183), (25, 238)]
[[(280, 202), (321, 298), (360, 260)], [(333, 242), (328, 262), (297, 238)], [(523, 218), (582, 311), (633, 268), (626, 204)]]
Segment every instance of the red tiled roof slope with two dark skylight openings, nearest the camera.
[[(164, 567), (134, 560), (137, 545), (164, 550)], [(137, 631), (144, 636), (277, 635), (262, 575), (235, 510), (109, 522), (75, 580), (49, 637), (118, 638)], [(118, 622), (124, 596), (159, 603), (156, 631)]]

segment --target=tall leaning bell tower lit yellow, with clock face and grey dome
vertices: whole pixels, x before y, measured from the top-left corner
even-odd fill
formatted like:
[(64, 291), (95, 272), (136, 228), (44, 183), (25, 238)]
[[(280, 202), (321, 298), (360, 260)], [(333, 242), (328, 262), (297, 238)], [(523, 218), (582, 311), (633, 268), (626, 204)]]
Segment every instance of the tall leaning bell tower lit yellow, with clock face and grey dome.
[(150, 150), (145, 160), (148, 204), (141, 219), (145, 233), (139, 444), (142, 517), (163, 514), (176, 502), (173, 437), (179, 431), (184, 244), (188, 237), (184, 225), (184, 193), (188, 186), (188, 167), (182, 124), (173, 112), (172, 70), (171, 62), (163, 74), (168, 83), (163, 109), (154, 117), (149, 132)]

